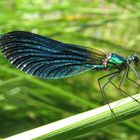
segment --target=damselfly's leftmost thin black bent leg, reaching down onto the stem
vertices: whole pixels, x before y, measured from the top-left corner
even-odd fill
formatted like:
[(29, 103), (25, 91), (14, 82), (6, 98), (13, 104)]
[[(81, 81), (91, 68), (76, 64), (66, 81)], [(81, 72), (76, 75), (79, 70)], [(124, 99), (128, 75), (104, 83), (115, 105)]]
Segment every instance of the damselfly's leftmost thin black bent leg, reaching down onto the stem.
[[(114, 79), (119, 73), (120, 73), (120, 71), (115, 71), (115, 72), (113, 72), (113, 73), (107, 74), (107, 75), (105, 75), (105, 76), (103, 76), (103, 77), (101, 77), (101, 78), (98, 79), (98, 85), (99, 85), (100, 91), (101, 91), (101, 93), (102, 93), (102, 96), (103, 96), (104, 100), (107, 101), (107, 104), (108, 104), (108, 106), (109, 106), (109, 108), (110, 108), (110, 110), (111, 110), (111, 112), (113, 113), (114, 116), (115, 116), (115, 113), (113, 112), (113, 110), (112, 110), (112, 108), (111, 108), (111, 106), (110, 106), (110, 104), (109, 104), (109, 101), (108, 101), (108, 98), (107, 98), (107, 96), (106, 96), (106, 94), (105, 94), (104, 88), (105, 88), (105, 86), (110, 82), (110, 80)], [(102, 86), (101, 86), (101, 83), (100, 83), (100, 80), (103, 80), (103, 79), (106, 78), (106, 77), (109, 77), (109, 79), (108, 79), (108, 81), (104, 84), (104, 86), (102, 87)]]

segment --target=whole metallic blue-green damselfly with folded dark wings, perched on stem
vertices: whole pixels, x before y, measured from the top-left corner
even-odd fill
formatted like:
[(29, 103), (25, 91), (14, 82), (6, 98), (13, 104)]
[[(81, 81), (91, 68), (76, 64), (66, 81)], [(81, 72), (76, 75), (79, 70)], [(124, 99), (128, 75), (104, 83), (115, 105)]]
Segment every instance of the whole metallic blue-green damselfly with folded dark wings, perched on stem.
[[(17, 68), (28, 74), (46, 79), (66, 78), (89, 70), (114, 69), (114, 72), (98, 79), (105, 100), (107, 97), (104, 88), (109, 83), (127, 94), (121, 89), (124, 77), (140, 86), (139, 83), (128, 77), (131, 69), (140, 78), (140, 74), (132, 66), (132, 64), (136, 67), (140, 65), (140, 59), (136, 54), (127, 58), (115, 53), (105, 54), (95, 49), (62, 43), (25, 31), (13, 31), (2, 35), (0, 49)], [(119, 85), (116, 86), (112, 80), (122, 72), (124, 73)], [(108, 80), (101, 86), (100, 81), (105, 77), (108, 77)]]

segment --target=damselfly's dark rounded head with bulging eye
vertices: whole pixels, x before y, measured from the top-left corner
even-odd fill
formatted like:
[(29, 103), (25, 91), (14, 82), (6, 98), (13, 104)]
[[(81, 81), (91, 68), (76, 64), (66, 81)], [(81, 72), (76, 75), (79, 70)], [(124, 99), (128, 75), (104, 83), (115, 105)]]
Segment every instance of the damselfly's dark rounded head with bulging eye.
[(129, 63), (134, 63), (135, 66), (139, 66), (140, 65), (140, 59), (136, 54), (132, 54), (129, 58), (128, 58), (128, 62)]

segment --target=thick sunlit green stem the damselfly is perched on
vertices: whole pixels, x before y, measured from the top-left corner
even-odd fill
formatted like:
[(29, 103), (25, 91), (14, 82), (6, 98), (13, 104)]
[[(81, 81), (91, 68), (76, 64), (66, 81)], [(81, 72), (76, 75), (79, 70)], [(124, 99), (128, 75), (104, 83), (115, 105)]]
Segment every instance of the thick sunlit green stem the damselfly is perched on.
[(12, 139), (35, 139), (35, 140), (62, 140), (72, 139), (80, 135), (90, 133), (97, 129), (119, 123), (140, 114), (140, 93), (110, 104), (115, 116), (112, 116), (108, 105), (93, 109), (66, 119), (23, 132), (6, 138)]

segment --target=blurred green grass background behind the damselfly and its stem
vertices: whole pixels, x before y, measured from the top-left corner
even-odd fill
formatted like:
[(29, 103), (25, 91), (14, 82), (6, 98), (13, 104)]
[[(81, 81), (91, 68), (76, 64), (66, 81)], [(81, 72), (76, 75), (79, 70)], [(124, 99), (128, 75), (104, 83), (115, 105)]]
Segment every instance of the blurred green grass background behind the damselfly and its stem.
[[(140, 1), (1, 0), (0, 34), (13, 30), (31, 31), (124, 57), (134, 52), (140, 56)], [(107, 73), (90, 71), (67, 79), (42, 80), (17, 70), (0, 53), (0, 137), (102, 106), (97, 79)], [(133, 73), (130, 77), (137, 80)], [(123, 89), (130, 95), (139, 92), (127, 80)], [(112, 86), (106, 92), (110, 102), (125, 97)], [(77, 139), (139, 140), (139, 120), (137, 116)]]

